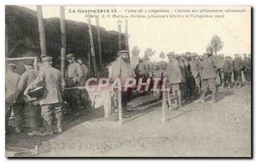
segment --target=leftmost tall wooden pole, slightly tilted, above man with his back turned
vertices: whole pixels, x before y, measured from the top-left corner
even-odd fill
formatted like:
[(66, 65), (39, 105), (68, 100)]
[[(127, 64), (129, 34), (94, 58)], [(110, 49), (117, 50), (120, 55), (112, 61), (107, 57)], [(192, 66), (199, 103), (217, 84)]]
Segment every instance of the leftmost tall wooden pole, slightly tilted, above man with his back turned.
[(40, 48), (41, 48), (41, 57), (46, 56), (46, 47), (45, 47), (45, 34), (44, 34), (44, 19), (42, 6), (37, 6), (38, 11), (38, 31), (40, 38)]

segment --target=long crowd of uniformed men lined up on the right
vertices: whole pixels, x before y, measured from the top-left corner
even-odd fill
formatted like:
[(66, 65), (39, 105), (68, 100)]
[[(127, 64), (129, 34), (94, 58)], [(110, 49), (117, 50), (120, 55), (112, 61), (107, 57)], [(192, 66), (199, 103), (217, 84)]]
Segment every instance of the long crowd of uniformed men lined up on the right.
[(170, 52), (167, 56), (169, 62), (150, 62), (146, 63), (140, 60), (135, 72), (137, 77), (155, 77), (156, 72), (162, 72), (162, 77), (167, 78), (168, 86), (176, 100), (174, 104), (169, 101), (170, 107), (182, 107), (186, 100), (193, 99), (201, 95), (200, 100), (205, 101), (207, 91), (212, 92), (214, 103), (218, 90), (217, 78), (220, 82), (220, 88), (232, 87), (232, 74), (234, 76), (235, 87), (241, 87), (243, 72), (246, 80), (246, 87), (251, 84), (251, 55), (236, 54), (234, 60), (231, 56), (213, 55), (212, 48), (207, 48), (207, 53), (197, 55), (196, 53), (186, 52), (186, 54), (177, 55)]

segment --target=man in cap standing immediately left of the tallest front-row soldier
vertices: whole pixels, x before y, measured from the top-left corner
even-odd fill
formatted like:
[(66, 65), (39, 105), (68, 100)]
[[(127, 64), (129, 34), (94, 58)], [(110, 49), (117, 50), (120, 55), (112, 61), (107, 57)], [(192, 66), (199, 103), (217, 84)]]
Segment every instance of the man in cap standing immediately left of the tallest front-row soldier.
[(189, 61), (190, 72), (195, 79), (195, 84), (198, 91), (201, 93), (201, 77), (200, 77), (200, 63), (195, 59), (196, 53), (191, 54), (191, 61)]

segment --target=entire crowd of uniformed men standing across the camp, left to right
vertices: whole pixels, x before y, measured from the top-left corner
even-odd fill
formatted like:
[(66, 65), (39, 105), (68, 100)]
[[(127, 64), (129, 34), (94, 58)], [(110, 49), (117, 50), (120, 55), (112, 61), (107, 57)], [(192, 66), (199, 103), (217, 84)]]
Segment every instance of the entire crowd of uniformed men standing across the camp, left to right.
[[(135, 69), (131, 68), (129, 61), (129, 51), (120, 50), (118, 58), (108, 65), (108, 78), (113, 81), (119, 78), (122, 88), (125, 87), (126, 78), (148, 78), (154, 77), (156, 71), (161, 72), (162, 78), (167, 78), (167, 85), (171, 88), (174, 100), (169, 101), (171, 108), (183, 107), (183, 102), (201, 95), (197, 101), (206, 101), (208, 91), (212, 92), (212, 99), (209, 103), (216, 101), (218, 91), (217, 77), (220, 79), (221, 87), (231, 88), (231, 76), (234, 75), (235, 86), (241, 87), (241, 72), (247, 81), (247, 86), (251, 81), (251, 55), (235, 55), (232, 60), (230, 56), (212, 55), (212, 48), (207, 48), (207, 53), (197, 55), (187, 52), (185, 55), (177, 55), (174, 52), (169, 53), (168, 62), (162, 61), (155, 65), (154, 63), (145, 63), (139, 61)], [(75, 60), (73, 54), (67, 55), (69, 65), (67, 74), (63, 76), (61, 72), (52, 67), (52, 58), (49, 56), (42, 58), (42, 65), (39, 71), (33, 67), (33, 61), (26, 61), (26, 72), (20, 76), (15, 72), (17, 67), (11, 63), (7, 66), (5, 88), (6, 88), (6, 128), (8, 126), (11, 112), (15, 115), (15, 131), (20, 133), (22, 122), (22, 105), (28, 107), (33, 116), (33, 130), (28, 133), (29, 136), (50, 136), (54, 132), (61, 133), (61, 103), (67, 101), (73, 111), (73, 116), (79, 115), (81, 102), (85, 98), (85, 91), (82, 90), (64, 90), (65, 87), (84, 86), (89, 78), (89, 70), (81, 59)], [(110, 82), (111, 83), (111, 82)], [(39, 98), (30, 97), (31, 90), (37, 87), (43, 87), (43, 95)], [(127, 103), (131, 100), (131, 89), (122, 89), (121, 104), (125, 118), (130, 117), (127, 111)], [(113, 93), (113, 112), (118, 112), (119, 95), (117, 91)], [(174, 102), (174, 103), (173, 103)], [(41, 115), (44, 119), (44, 130), (38, 129), (38, 116), (36, 112), (41, 109)], [(53, 128), (54, 119), (56, 120), (55, 129)]]

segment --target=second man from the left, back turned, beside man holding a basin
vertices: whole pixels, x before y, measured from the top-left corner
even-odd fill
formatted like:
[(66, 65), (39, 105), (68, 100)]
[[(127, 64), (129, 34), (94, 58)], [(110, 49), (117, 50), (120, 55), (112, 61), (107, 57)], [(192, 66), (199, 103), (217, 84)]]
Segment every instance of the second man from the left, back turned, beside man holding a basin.
[[(26, 72), (23, 72), (20, 76), (20, 82), (18, 84), (18, 90), (20, 93), (24, 93), (24, 90), (28, 87), (29, 84), (32, 84), (32, 82), (35, 80), (35, 78), (38, 77), (38, 70), (33, 68), (33, 61), (29, 60), (25, 62), (24, 67), (26, 68)], [(39, 101), (35, 97), (30, 97), (29, 95), (24, 95), (24, 101), (25, 101), (25, 107), (29, 110), (29, 112), (32, 114), (32, 132), (29, 132), (28, 136), (37, 136), (41, 132), (39, 130), (39, 122), (40, 122), (40, 114), (41, 109), (39, 105)]]

